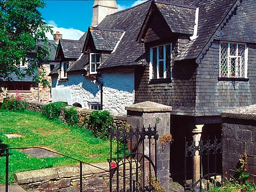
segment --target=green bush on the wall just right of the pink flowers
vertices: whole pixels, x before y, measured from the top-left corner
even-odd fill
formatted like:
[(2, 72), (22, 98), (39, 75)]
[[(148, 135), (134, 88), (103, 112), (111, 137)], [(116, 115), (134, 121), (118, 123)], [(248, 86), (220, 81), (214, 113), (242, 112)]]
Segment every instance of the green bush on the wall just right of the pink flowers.
[(43, 115), (48, 119), (57, 119), (60, 116), (62, 107), (66, 107), (67, 104), (63, 102), (52, 102), (51, 104), (43, 106)]

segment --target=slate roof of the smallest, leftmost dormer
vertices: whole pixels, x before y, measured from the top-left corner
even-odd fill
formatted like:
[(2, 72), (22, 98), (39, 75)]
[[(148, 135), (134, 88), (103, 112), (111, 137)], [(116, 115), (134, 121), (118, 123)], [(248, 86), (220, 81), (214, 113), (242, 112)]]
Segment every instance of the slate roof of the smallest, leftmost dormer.
[(59, 55), (60, 51), (62, 50), (63, 56), (66, 59), (78, 59), (80, 54), (82, 53), (84, 42), (79, 40), (59, 40), (59, 45), (57, 49), (57, 55)]

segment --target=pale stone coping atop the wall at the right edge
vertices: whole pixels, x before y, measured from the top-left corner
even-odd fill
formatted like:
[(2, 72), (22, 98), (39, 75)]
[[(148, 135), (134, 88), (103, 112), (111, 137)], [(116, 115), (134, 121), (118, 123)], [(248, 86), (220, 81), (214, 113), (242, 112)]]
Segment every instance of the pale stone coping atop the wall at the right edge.
[(222, 118), (256, 120), (256, 104), (226, 110), (225, 112), (221, 113), (221, 117)]

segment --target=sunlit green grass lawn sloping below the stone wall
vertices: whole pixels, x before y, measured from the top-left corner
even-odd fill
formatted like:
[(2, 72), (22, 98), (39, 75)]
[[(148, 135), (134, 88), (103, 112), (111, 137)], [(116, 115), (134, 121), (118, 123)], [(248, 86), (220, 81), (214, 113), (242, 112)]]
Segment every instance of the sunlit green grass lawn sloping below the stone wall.
[[(12, 133), (21, 137), (5, 136)], [(0, 112), (0, 144), (9, 148), (43, 147), (86, 163), (104, 162), (110, 156), (110, 141), (94, 138), (87, 129), (49, 121), (40, 113), (28, 111)], [(35, 158), (18, 149), (10, 149), (9, 154), (10, 183), (15, 172), (79, 164), (66, 157)], [(0, 163), (1, 184), (5, 182), (5, 155), (0, 156)]]

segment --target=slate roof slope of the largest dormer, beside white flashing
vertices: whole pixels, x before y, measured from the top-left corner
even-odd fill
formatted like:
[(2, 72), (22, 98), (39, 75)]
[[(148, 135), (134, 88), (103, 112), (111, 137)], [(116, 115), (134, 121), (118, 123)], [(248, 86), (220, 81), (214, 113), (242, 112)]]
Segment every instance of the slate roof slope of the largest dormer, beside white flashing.
[(173, 33), (193, 35), (196, 7), (156, 2), (158, 10)]

